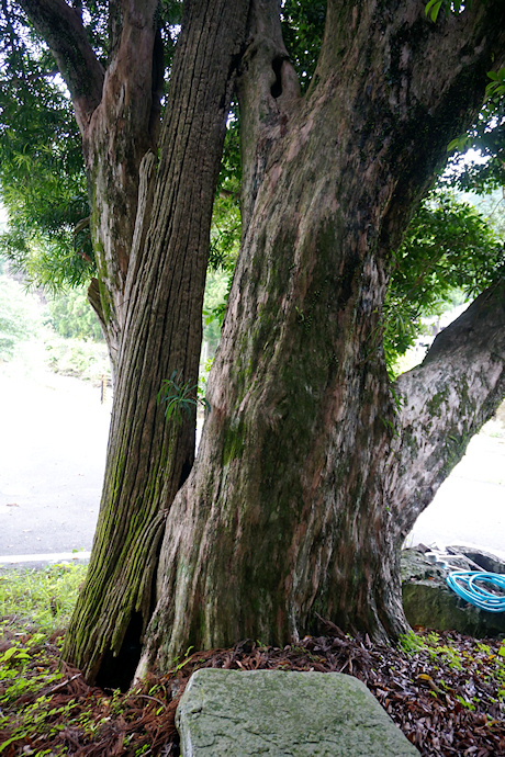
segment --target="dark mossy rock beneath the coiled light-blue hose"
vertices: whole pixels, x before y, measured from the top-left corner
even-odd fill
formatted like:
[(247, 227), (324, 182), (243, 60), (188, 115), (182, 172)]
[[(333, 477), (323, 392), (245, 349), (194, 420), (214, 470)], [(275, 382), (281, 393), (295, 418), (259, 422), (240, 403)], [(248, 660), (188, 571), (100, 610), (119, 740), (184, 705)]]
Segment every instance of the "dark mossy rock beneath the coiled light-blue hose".
[[(505, 633), (505, 613), (487, 612), (469, 605), (447, 586), (446, 576), (450, 570), (483, 569), (473, 562), (475, 551), (471, 555), (472, 558), (449, 552), (402, 551), (403, 609), (411, 625), (452, 630), (476, 639)], [(434, 558), (439, 562), (431, 562)]]

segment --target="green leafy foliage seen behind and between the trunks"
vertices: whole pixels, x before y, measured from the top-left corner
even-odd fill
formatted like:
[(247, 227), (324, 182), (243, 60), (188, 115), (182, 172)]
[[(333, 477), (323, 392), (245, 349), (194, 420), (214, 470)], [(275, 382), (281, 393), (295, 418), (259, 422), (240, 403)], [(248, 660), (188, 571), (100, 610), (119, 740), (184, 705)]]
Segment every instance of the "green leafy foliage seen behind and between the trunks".
[[(282, 8), (284, 39), (302, 89), (308, 87), (317, 61), (325, 7), (323, 1), (290, 0)], [(87, 11), (87, 34), (105, 63), (106, 3), (89, 3)], [(161, 13), (168, 83), (181, 2), (164, 3)], [(9, 212), (9, 230), (0, 237), (0, 250), (29, 281), (48, 290), (89, 284), (97, 265), (81, 139), (69, 92), (46, 43), (16, 3), (4, 5), (0, 22), (0, 193)], [(485, 193), (505, 187), (504, 102), (497, 94), (487, 100), (475, 124), (451, 145), (453, 150), (478, 149), (487, 160), (465, 163), (464, 154), (453, 151), (450, 171), (423, 201), (401, 249), (392, 251), (395, 262), (383, 326), (392, 371), (397, 357), (418, 336), (420, 315), (438, 313), (451, 302), (456, 289), (474, 297), (500, 275), (503, 240), (473, 207), (458, 202), (454, 190)], [(239, 126), (235, 102), (216, 187), (209, 261), (211, 269), (229, 273), (240, 238)], [(221, 324), (224, 305), (205, 312), (209, 325), (214, 316)], [(212, 328), (214, 335), (215, 325)]]

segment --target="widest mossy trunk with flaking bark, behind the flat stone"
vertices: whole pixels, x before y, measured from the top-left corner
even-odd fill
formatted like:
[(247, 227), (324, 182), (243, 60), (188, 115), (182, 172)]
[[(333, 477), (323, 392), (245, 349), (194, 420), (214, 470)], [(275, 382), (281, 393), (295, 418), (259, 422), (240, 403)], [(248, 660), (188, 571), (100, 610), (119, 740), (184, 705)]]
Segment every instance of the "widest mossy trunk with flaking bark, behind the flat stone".
[[(505, 5), (475, 3), (434, 26), (417, 2), (329, 2), (303, 100), (283, 63), (276, 5), (255, 3), (240, 84), (243, 247), (209, 383), (212, 413), (167, 519), (139, 673), (190, 644), (296, 641), (318, 617), (375, 639), (406, 628), (399, 550), (415, 454), (403, 459), (399, 439), (413, 436), (406, 408), (422, 378), (399, 382), (399, 416), (381, 344), (390, 252), (482, 102), (495, 49), (503, 57)], [(500, 294), (492, 302), (503, 325)], [(503, 339), (493, 350), (487, 382), (483, 359), (476, 366), (476, 425), (503, 395)], [(456, 368), (446, 368), (462, 399)], [(439, 461), (425, 472), (423, 504), (456, 462), (447, 439), (457, 398), (451, 408), (416, 431), (419, 448), (437, 439)]]

